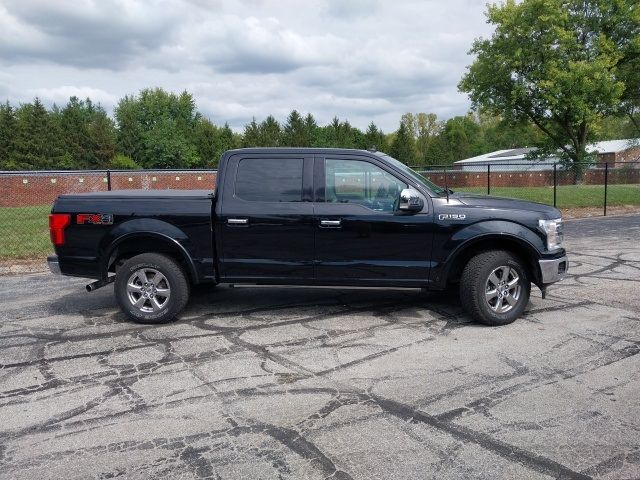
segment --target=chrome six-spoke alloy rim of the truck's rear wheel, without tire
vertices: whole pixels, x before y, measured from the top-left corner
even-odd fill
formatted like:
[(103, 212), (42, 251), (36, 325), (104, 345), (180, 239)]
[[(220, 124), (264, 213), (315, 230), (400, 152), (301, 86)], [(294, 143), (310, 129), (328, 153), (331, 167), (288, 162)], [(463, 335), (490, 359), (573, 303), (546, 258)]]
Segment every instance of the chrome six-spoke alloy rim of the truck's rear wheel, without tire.
[(155, 268), (141, 268), (127, 281), (127, 297), (141, 312), (159, 312), (167, 306), (171, 286), (167, 278)]

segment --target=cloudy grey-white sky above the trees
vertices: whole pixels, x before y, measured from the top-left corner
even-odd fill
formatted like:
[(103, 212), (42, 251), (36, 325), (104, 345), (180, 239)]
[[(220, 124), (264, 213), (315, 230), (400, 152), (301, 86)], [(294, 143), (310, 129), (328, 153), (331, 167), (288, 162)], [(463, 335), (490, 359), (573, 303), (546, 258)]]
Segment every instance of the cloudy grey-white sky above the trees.
[(145, 87), (187, 90), (216, 123), (292, 109), (397, 128), (469, 108), (456, 85), (485, 0), (2, 0), (0, 99), (111, 110)]

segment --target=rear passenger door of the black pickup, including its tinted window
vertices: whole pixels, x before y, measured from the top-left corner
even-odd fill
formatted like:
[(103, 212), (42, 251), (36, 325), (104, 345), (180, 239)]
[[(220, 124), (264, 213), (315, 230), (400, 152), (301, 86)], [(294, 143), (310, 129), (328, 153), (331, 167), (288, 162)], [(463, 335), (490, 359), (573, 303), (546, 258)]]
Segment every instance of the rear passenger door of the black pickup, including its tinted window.
[(229, 159), (217, 217), (224, 281), (313, 281), (312, 168), (295, 153)]

